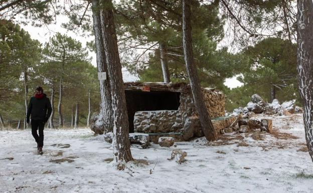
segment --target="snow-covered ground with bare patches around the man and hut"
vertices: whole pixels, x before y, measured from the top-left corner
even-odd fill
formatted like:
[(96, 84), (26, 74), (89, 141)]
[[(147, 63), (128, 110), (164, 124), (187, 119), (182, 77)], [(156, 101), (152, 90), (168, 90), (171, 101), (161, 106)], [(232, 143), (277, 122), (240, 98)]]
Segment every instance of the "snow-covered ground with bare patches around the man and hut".
[[(0, 192), (313, 192), (313, 163), (299, 150), (302, 115), (267, 117), (276, 131), (265, 140), (231, 133), (214, 143), (132, 145), (133, 157), (149, 164), (128, 163), (121, 171), (110, 162), (111, 145), (89, 129), (45, 130), (43, 155), (30, 130), (0, 131)], [(188, 153), (187, 162), (167, 159), (175, 148)], [(50, 162), (61, 158), (74, 161)]]

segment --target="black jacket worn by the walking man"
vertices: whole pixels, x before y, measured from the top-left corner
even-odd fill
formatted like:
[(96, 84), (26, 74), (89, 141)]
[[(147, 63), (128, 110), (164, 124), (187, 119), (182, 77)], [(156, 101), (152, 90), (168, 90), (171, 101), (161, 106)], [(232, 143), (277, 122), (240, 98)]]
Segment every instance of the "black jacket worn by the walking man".
[(32, 97), (27, 109), (27, 119), (30, 118), (32, 114), (33, 120), (44, 120), (48, 121), (52, 112), (51, 103), (46, 94), (42, 99), (37, 99), (36, 97)]

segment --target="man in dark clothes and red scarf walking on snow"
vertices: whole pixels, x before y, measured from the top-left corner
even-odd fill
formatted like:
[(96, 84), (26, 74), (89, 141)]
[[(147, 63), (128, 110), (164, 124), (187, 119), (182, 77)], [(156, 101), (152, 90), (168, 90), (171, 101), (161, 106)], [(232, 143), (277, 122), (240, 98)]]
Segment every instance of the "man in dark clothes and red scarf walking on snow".
[[(51, 103), (42, 87), (36, 88), (36, 94), (30, 100), (27, 110), (27, 123), (30, 122), (30, 115), (32, 115), (32, 134), (37, 142), (37, 149), (39, 153), (43, 153), (44, 146), (44, 126), (48, 121), (52, 112)], [(39, 136), (37, 134), (39, 131)]]

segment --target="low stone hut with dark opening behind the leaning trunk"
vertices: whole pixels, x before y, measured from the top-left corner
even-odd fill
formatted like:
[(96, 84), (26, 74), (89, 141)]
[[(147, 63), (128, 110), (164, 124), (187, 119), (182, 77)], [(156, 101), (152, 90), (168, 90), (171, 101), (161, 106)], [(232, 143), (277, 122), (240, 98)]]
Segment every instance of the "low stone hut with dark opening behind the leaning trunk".
[[(189, 84), (145, 82), (124, 86), (130, 133), (148, 133), (153, 142), (160, 136), (177, 140), (203, 136)], [(234, 117), (224, 117), (225, 95), (221, 91), (203, 88), (202, 92), (218, 134)]]

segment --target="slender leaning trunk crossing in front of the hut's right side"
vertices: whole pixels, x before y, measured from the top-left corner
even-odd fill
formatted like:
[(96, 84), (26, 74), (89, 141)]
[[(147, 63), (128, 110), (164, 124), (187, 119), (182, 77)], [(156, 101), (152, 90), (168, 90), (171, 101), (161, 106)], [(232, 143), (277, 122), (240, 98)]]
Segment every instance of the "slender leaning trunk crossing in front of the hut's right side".
[(201, 86), (198, 79), (197, 69), (194, 64), (191, 38), (191, 12), (190, 0), (183, 0), (183, 47), (187, 73), (193, 93), (194, 102), (199, 114), (203, 133), (208, 141), (216, 140), (216, 133), (211, 122), (211, 118), (203, 100)]

